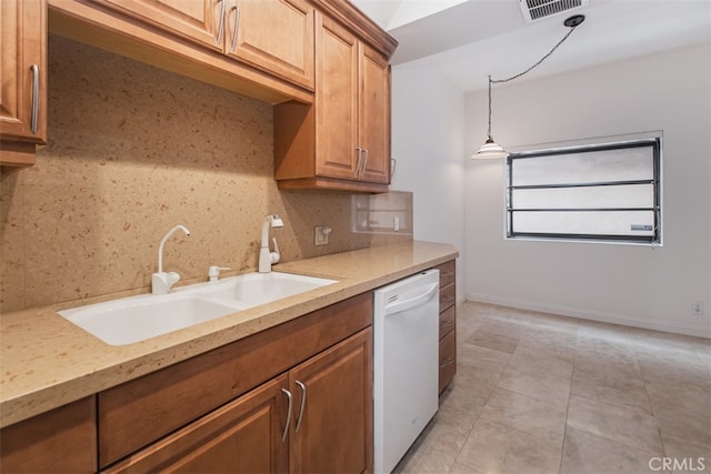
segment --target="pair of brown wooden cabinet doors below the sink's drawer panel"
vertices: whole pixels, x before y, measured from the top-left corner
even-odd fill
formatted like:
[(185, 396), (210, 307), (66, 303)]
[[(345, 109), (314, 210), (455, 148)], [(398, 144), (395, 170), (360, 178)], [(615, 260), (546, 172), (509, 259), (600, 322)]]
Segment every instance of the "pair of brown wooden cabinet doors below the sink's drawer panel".
[(371, 472), (371, 352), (369, 327), (106, 472)]

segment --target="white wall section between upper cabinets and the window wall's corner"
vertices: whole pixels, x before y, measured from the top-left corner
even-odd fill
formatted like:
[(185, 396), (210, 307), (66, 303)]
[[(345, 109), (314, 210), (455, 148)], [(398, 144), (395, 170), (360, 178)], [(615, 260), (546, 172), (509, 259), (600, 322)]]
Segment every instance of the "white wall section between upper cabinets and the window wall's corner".
[[(459, 252), (464, 289), (464, 95), (430, 69), (392, 69), (392, 189), (412, 191), (414, 239)], [(460, 291), (460, 299), (464, 292)]]

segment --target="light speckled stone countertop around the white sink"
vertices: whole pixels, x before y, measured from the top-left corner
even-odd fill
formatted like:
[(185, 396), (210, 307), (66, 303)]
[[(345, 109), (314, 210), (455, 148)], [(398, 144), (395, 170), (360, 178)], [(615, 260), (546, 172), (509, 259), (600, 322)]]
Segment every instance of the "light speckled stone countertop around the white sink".
[[(57, 314), (77, 302), (0, 314), (0, 427), (184, 361), (459, 255), (408, 241), (286, 262), (276, 271), (338, 283), (134, 344), (108, 345)], [(124, 296), (122, 294), (121, 296)], [(90, 299), (82, 304), (106, 301)]]

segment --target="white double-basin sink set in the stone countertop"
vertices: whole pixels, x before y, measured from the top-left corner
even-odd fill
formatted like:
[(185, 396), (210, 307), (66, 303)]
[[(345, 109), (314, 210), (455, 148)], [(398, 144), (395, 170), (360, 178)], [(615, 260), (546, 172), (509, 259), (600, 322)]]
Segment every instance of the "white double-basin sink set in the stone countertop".
[(166, 295), (123, 297), (59, 314), (107, 344), (124, 345), (331, 283), (337, 281), (280, 272), (246, 273), (178, 288)]

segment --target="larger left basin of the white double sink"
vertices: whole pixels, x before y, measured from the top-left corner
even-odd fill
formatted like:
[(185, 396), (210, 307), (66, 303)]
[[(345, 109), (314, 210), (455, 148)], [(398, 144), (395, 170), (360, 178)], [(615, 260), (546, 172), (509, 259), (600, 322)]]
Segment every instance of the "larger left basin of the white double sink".
[(200, 295), (150, 294), (64, 310), (59, 314), (107, 344), (123, 345), (243, 309), (237, 302), (228, 304)]

